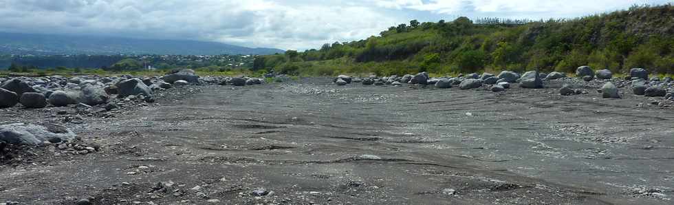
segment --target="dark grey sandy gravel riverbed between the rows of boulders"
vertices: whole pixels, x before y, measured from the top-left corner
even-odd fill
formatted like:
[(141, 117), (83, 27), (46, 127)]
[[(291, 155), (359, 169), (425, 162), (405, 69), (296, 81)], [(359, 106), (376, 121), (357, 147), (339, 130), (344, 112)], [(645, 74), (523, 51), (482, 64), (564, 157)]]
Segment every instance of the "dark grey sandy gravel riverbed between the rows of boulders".
[(0, 166), (0, 202), (673, 203), (674, 110), (643, 96), (303, 81), (195, 87), (71, 125), (102, 151)]

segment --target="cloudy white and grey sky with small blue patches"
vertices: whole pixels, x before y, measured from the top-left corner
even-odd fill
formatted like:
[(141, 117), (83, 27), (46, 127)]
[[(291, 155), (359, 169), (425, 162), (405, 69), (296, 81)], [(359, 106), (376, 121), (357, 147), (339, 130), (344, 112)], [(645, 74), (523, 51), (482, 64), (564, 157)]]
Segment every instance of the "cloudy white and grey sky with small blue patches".
[(0, 0), (0, 31), (219, 41), (306, 50), (392, 25), (456, 17), (549, 19), (674, 0)]

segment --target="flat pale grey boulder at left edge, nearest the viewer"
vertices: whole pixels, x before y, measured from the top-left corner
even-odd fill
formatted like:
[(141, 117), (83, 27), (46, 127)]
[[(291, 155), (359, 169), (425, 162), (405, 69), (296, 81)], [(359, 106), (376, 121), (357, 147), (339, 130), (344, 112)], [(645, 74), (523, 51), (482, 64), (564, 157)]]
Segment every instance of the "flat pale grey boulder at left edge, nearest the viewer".
[(69, 129), (54, 124), (13, 123), (0, 125), (0, 141), (11, 144), (37, 145), (43, 144), (45, 141), (69, 141), (75, 137), (75, 133)]

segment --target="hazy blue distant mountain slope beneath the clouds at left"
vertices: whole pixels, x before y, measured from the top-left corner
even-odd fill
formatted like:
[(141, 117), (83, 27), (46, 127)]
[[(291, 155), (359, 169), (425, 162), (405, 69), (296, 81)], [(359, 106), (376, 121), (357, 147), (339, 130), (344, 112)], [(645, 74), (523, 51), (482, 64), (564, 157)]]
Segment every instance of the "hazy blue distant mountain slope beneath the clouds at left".
[(251, 48), (206, 41), (128, 39), (103, 36), (67, 36), (0, 32), (0, 54), (274, 54), (283, 50)]

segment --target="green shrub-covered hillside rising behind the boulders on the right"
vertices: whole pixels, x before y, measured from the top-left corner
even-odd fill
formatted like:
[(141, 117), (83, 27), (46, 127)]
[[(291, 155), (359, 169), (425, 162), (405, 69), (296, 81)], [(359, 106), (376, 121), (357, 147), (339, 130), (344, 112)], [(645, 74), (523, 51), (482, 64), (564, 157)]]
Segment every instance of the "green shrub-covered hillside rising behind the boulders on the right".
[(673, 19), (670, 3), (534, 22), (466, 17), (437, 23), (414, 20), (361, 41), (260, 56), (253, 69), (303, 75), (390, 75), (534, 68), (574, 72), (580, 65), (590, 65), (616, 73), (644, 67), (674, 74)]

